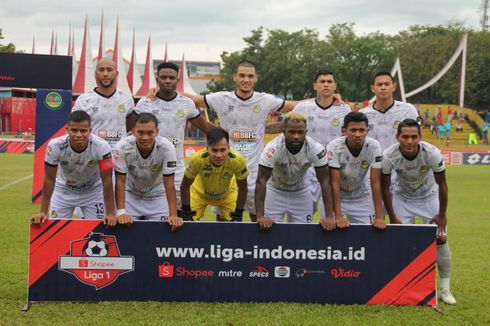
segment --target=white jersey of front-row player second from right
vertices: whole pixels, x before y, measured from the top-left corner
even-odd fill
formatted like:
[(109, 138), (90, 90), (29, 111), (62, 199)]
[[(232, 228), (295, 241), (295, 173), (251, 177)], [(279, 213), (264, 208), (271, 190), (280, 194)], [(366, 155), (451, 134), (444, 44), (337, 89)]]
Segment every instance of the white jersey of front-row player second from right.
[(340, 197), (342, 200), (361, 199), (371, 194), (369, 168), (381, 169), (383, 155), (380, 143), (366, 137), (359, 155), (354, 156), (347, 147), (345, 136), (332, 140), (327, 146), (328, 166), (340, 169)]

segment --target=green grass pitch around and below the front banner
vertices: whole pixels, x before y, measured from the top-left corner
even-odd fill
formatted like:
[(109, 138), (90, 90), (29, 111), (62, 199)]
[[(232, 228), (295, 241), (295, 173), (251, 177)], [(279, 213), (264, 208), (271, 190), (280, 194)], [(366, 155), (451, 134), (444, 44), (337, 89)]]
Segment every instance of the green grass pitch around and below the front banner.
[(490, 316), (490, 170), (449, 166), (449, 243), (455, 306), (295, 303), (39, 303), (21, 312), (27, 295), (32, 155), (0, 154), (0, 325), (488, 325)]

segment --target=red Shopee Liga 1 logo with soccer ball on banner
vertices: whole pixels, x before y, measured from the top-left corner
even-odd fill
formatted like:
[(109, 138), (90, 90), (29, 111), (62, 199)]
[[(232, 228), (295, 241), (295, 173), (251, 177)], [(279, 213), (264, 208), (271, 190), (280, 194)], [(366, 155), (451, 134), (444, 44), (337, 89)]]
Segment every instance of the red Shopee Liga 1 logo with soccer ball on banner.
[(134, 257), (121, 256), (115, 236), (90, 233), (70, 243), (70, 254), (60, 256), (58, 269), (99, 290), (112, 284), (119, 275), (132, 272)]

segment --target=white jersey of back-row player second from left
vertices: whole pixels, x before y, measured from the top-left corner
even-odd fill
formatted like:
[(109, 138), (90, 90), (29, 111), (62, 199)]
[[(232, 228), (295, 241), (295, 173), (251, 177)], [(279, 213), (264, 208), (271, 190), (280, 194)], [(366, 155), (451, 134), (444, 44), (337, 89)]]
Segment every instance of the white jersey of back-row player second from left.
[(175, 146), (177, 163), (179, 166), (185, 166), (184, 136), (187, 120), (200, 115), (194, 102), (180, 94), (169, 101), (160, 98), (152, 101), (145, 97), (138, 102), (135, 112), (151, 113), (158, 119), (159, 135), (167, 138)]

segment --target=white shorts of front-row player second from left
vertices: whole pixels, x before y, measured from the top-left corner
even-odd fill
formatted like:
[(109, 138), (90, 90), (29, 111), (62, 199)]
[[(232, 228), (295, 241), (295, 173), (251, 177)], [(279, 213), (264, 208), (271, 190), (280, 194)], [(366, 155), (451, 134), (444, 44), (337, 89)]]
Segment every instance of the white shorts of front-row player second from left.
[(167, 199), (164, 196), (142, 197), (126, 191), (126, 212), (136, 220), (166, 221)]

